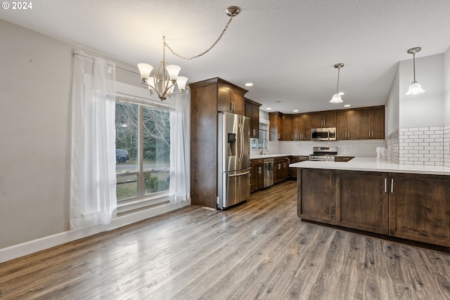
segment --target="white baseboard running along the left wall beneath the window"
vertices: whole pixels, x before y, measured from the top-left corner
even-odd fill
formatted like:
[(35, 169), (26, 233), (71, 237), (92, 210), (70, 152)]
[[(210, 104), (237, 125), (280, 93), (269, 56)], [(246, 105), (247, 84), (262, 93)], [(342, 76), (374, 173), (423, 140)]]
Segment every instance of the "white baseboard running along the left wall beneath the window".
[(47, 237), (41, 237), (37, 240), (31, 240), (22, 244), (15, 244), (11, 247), (0, 249), (0, 263), (5, 261), (11, 261), (18, 257), (39, 252), (51, 247), (65, 244), (67, 242), (73, 242), (89, 235), (95, 235), (103, 231), (113, 230), (122, 226), (129, 225), (138, 221), (142, 221), (152, 216), (158, 216), (181, 207), (186, 207), (191, 204), (191, 201), (181, 201), (176, 203), (165, 203), (156, 207), (150, 207), (149, 209), (138, 211), (134, 214), (127, 214), (126, 216), (120, 216), (117, 219), (111, 221), (108, 225), (91, 226), (88, 228), (82, 228), (77, 230), (64, 231), (63, 233), (57, 233), (55, 235), (49, 235)]

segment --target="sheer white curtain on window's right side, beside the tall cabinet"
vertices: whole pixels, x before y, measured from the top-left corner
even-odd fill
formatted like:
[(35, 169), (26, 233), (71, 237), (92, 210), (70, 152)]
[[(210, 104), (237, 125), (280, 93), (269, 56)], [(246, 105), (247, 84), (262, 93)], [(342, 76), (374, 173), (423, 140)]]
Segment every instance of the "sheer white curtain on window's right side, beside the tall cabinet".
[[(170, 107), (170, 202), (191, 198), (191, 91), (172, 96)], [(172, 102), (172, 101), (171, 101)]]

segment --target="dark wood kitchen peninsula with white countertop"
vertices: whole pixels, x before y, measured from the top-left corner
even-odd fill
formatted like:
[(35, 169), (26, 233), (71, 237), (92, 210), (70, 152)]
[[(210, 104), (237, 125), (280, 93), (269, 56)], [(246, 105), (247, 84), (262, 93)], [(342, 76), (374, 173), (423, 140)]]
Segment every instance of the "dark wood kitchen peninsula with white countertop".
[(450, 247), (450, 168), (371, 157), (297, 168), (304, 220)]

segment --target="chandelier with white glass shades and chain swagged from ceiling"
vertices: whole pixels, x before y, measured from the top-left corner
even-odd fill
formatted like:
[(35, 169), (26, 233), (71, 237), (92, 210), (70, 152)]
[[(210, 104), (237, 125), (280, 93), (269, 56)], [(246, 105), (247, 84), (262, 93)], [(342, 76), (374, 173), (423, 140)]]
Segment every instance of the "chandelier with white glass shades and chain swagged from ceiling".
[[(210, 46), (210, 48), (198, 54), (197, 56), (192, 56), (190, 58), (180, 56), (179, 54), (175, 53), (169, 45), (167, 45), (166, 37), (162, 37), (162, 60), (160, 61), (158, 67), (155, 69), (155, 72), (153, 72), (153, 76), (150, 77), (150, 73), (153, 70), (152, 65), (149, 65), (148, 63), (138, 64), (139, 72), (141, 73), (142, 84), (148, 86), (150, 95), (153, 95), (153, 93), (156, 92), (158, 94), (158, 98), (163, 101), (166, 100), (167, 97), (171, 98), (173, 94), (184, 93), (188, 78), (184, 76), (178, 76), (181, 70), (181, 67), (179, 67), (178, 65), (167, 65), (166, 48), (168, 48), (169, 51), (174, 54), (174, 56), (178, 56), (179, 58), (185, 60), (192, 60), (194, 58), (203, 56), (204, 54), (208, 53), (214, 46), (216, 46), (217, 42), (219, 42), (221, 37), (226, 32), (226, 29), (228, 28), (231, 20), (233, 20), (233, 17), (236, 17), (236, 15), (239, 14), (239, 8), (236, 6), (229, 6), (229, 8), (226, 8), (225, 13), (230, 17), (230, 19), (226, 23), (224, 30), (222, 30), (221, 34), (216, 39), (214, 44)], [(176, 89), (178, 89), (178, 91), (176, 91)]]

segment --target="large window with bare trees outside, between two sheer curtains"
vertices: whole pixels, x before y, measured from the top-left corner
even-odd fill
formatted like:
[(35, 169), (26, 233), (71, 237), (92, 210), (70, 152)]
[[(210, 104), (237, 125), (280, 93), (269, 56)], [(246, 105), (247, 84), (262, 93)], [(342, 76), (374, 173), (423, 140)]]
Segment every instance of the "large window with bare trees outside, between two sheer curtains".
[(136, 202), (168, 195), (168, 107), (117, 100), (115, 129), (117, 206), (136, 208)]

